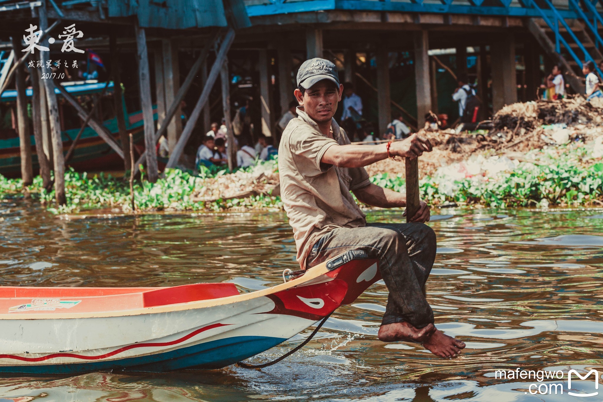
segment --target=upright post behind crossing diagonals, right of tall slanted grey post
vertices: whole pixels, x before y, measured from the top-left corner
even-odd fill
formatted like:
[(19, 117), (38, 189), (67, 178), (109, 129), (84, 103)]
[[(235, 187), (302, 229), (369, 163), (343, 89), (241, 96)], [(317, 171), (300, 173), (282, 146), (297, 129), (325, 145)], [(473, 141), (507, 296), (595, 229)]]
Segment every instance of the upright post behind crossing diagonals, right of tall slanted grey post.
[[(163, 50), (163, 85), (165, 89), (165, 104), (171, 105), (180, 87), (180, 68), (178, 67), (178, 46), (172, 39), (162, 40)], [(169, 152), (174, 150), (174, 146), (182, 134), (182, 109), (180, 102), (176, 105), (175, 119), (172, 119), (168, 125), (168, 146)]]

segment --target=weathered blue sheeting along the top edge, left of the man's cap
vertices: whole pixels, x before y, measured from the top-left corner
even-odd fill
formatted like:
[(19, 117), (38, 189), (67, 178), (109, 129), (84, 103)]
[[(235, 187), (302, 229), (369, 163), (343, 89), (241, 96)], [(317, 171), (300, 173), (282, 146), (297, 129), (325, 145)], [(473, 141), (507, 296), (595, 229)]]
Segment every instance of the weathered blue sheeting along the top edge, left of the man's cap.
[(242, 0), (109, 0), (110, 17), (136, 15), (140, 27), (186, 29), (250, 26)]

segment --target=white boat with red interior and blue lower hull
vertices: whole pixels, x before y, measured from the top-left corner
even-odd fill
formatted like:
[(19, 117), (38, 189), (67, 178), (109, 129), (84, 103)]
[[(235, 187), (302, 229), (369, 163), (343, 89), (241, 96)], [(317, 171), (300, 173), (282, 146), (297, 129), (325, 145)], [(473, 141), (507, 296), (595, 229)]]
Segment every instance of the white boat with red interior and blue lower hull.
[(268, 350), (379, 280), (348, 251), (300, 277), (239, 294), (232, 283), (174, 287), (0, 287), (0, 372), (221, 368)]

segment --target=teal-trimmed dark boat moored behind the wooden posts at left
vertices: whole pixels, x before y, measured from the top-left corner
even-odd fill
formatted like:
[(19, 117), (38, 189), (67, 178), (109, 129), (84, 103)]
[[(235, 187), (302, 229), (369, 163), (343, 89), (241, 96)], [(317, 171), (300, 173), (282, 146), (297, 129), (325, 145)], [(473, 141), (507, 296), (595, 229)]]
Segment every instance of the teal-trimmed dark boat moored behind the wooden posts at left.
[[(100, 93), (103, 90), (105, 83), (96, 82), (83, 82), (80, 84), (66, 85), (65, 89), (75, 97), (92, 95), (93, 93)], [(106, 93), (110, 94), (113, 92), (113, 82), (110, 81), (107, 86)], [(31, 88), (25, 91), (28, 98), (32, 96)], [(58, 89), (55, 89), (57, 97), (60, 99), (61, 95)], [(5, 90), (0, 96), (1, 102), (14, 102), (16, 99), (16, 90)], [(109, 95), (107, 95), (109, 96)], [(112, 98), (112, 95), (111, 95)], [(112, 101), (112, 99), (111, 99)], [(134, 143), (142, 140), (144, 133), (144, 122), (142, 119), (142, 111), (136, 111), (134, 113), (127, 113), (125, 110), (125, 102), (122, 100), (122, 107), (124, 108), (124, 115), (126, 116), (126, 130), (128, 133), (132, 133), (134, 136)], [(155, 107), (155, 106), (154, 106)], [(66, 105), (66, 109), (71, 106)], [(63, 113), (62, 113), (63, 114)], [(154, 119), (157, 119), (157, 113), (154, 113)], [(104, 126), (112, 133), (113, 137), (119, 141), (119, 130), (117, 125), (117, 119), (114, 117), (103, 122)], [(72, 128), (71, 130), (63, 130), (61, 136), (63, 139), (63, 149), (65, 152), (71, 146), (73, 140), (77, 136), (79, 128)], [(31, 140), (31, 152), (32, 162), (34, 171), (39, 169), (37, 154), (36, 154), (36, 140), (32, 135)], [(19, 137), (16, 136), (16, 132), (12, 138), (0, 139), (0, 174), (7, 177), (18, 177), (21, 174), (21, 156), (19, 152)], [(113, 149), (104, 142), (101, 137), (98, 136), (96, 131), (90, 127), (84, 128), (81, 138), (78, 141), (74, 149), (74, 155), (68, 162), (68, 166), (72, 166), (77, 171), (98, 171), (99, 169), (109, 168), (122, 168), (121, 158), (113, 151)]]

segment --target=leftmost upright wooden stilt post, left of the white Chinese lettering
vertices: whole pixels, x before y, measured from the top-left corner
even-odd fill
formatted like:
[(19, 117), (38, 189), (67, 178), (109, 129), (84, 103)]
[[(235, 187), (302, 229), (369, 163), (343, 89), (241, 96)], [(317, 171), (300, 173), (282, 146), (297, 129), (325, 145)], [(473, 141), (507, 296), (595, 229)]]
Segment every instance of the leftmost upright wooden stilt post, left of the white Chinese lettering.
[[(14, 52), (21, 54), (21, 41), (17, 36), (12, 37)], [(17, 89), (17, 131), (19, 131), (19, 150), (21, 151), (21, 178), (23, 185), (29, 186), (34, 181), (33, 166), (31, 165), (31, 132), (30, 121), (27, 117), (27, 95), (25, 95), (25, 71), (23, 66), (17, 66), (14, 74)]]

